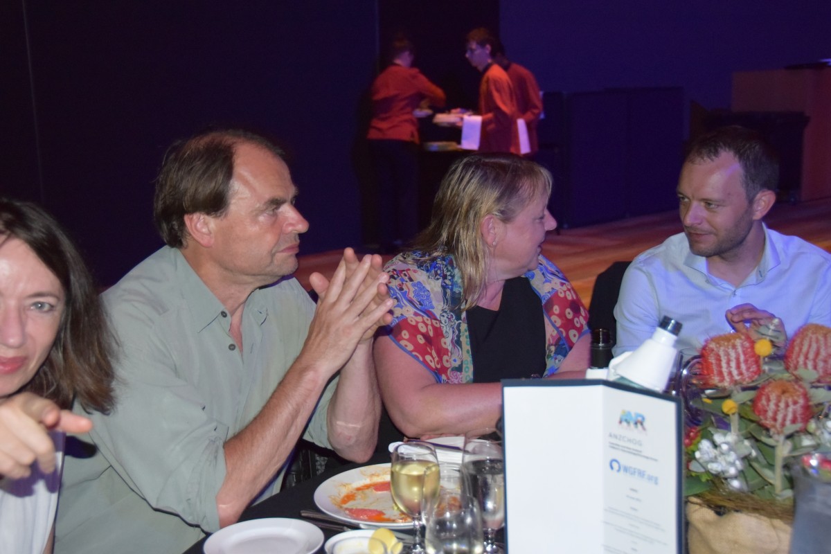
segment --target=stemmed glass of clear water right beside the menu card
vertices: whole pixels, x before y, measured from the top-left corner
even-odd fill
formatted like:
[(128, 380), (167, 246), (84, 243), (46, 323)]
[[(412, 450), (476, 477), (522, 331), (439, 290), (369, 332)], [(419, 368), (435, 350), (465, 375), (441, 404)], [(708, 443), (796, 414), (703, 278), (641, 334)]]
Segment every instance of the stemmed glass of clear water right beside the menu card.
[(505, 522), (505, 472), (502, 437), (496, 429), (465, 433), (462, 476), (465, 495), (482, 518), (484, 552), (501, 552), (496, 545), (496, 532)]

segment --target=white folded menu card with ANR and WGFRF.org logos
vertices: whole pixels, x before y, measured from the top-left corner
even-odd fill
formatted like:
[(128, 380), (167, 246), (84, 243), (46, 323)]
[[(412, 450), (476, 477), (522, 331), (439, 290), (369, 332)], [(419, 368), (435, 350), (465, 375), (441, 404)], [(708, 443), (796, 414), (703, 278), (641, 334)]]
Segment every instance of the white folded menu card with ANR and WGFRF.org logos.
[(508, 552), (683, 552), (681, 401), (603, 380), (504, 380)]

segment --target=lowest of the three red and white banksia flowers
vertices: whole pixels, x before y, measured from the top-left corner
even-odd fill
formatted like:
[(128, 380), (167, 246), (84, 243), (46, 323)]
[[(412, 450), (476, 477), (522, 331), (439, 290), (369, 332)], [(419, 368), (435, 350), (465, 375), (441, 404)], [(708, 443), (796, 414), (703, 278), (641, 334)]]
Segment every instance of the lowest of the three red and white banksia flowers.
[(794, 431), (805, 429), (813, 415), (808, 390), (791, 380), (773, 380), (760, 386), (753, 412), (759, 416), (760, 425), (779, 435), (791, 425), (799, 425)]

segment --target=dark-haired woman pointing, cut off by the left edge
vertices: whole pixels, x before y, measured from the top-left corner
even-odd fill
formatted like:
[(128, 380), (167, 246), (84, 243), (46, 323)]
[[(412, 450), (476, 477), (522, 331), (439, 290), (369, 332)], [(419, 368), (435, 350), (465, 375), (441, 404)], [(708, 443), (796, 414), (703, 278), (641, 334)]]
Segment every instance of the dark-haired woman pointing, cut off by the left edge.
[(52, 552), (72, 414), (113, 406), (113, 342), (90, 272), (60, 225), (0, 199), (0, 552)]

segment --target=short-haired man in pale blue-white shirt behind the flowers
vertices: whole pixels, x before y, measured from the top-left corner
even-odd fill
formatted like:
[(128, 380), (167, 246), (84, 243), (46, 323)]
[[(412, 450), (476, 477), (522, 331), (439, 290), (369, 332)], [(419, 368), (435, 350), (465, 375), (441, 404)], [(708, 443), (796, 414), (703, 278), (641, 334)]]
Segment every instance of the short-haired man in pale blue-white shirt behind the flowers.
[(831, 255), (768, 229), (779, 179), (775, 154), (738, 126), (701, 136), (681, 168), (684, 232), (638, 255), (615, 306), (615, 354), (652, 336), (661, 316), (681, 321), (677, 346), (746, 331), (779, 317), (793, 334), (831, 326)]

